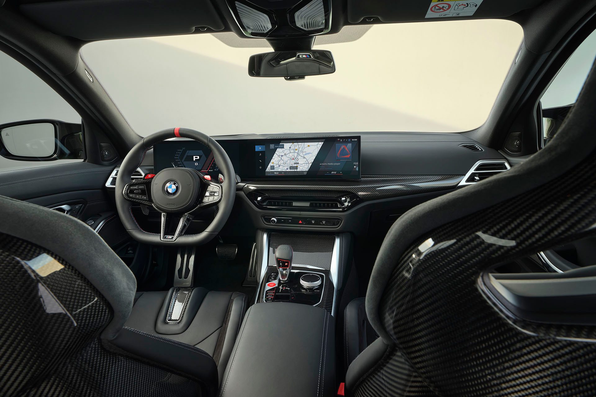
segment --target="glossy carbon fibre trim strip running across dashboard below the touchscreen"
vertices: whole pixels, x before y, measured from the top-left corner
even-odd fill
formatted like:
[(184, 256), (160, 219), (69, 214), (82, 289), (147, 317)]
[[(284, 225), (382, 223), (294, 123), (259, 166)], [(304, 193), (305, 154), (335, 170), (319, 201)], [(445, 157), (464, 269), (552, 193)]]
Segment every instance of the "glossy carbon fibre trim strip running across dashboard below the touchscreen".
[[(455, 189), (461, 182), (463, 175), (429, 175), (429, 176), (362, 176), (360, 180), (325, 180), (321, 189), (321, 180), (304, 181), (271, 181), (259, 180), (247, 182), (243, 187), (245, 194), (253, 190), (280, 193), (284, 195), (318, 195), (321, 190), (329, 192), (347, 192), (359, 196), (363, 201), (384, 198), (409, 196), (420, 193), (437, 192)], [(271, 193), (271, 195), (274, 195)]]

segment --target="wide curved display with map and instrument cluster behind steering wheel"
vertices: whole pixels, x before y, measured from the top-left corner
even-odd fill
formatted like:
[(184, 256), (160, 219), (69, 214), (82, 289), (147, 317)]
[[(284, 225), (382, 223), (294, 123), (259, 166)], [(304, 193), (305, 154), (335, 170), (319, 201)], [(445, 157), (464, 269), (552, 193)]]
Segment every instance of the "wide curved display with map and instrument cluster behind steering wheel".
[[(359, 179), (360, 137), (220, 139), (242, 179)], [(194, 140), (173, 139), (153, 147), (156, 173), (169, 167), (195, 168), (217, 176), (217, 159)]]

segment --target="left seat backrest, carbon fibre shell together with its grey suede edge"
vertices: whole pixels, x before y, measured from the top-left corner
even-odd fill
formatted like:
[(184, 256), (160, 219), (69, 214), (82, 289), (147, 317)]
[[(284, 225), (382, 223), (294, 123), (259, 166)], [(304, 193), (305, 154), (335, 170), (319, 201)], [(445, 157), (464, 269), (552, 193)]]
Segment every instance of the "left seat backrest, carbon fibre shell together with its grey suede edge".
[(0, 196), (0, 395), (200, 395), (200, 385), (114, 352), (135, 277), (91, 228)]

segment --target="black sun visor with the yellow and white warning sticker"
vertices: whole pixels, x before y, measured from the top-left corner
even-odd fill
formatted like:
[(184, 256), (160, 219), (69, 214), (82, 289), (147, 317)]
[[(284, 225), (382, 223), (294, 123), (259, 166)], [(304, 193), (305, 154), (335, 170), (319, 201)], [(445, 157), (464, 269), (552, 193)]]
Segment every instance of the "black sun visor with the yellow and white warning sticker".
[(375, 23), (499, 18), (536, 7), (541, 2), (541, 0), (347, 0), (347, 17), (350, 23), (360, 23), (363, 20)]

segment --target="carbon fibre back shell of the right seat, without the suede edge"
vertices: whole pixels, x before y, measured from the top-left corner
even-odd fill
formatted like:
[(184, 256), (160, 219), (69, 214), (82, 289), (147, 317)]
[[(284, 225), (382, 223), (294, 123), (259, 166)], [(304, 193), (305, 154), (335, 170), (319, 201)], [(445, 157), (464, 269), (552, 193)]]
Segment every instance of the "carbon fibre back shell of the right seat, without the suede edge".
[[(440, 226), (403, 252), (379, 312), (418, 383), (439, 395), (594, 395), (596, 327), (513, 318), (480, 275), (596, 233), (595, 169), (592, 153), (568, 173)], [(389, 384), (403, 390), (411, 380), (395, 360), (377, 364), (354, 394), (379, 395)]]

